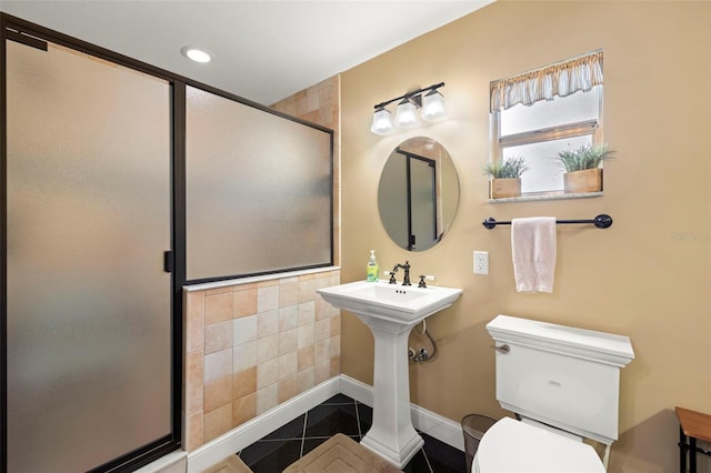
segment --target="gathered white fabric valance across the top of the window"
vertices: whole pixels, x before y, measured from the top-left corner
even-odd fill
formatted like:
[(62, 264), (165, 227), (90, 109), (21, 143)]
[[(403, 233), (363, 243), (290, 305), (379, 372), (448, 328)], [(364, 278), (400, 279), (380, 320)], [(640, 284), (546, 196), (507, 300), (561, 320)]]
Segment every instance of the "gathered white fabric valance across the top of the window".
[(532, 105), (602, 84), (602, 51), (547, 66), (490, 84), (491, 111), (505, 110), (518, 103)]

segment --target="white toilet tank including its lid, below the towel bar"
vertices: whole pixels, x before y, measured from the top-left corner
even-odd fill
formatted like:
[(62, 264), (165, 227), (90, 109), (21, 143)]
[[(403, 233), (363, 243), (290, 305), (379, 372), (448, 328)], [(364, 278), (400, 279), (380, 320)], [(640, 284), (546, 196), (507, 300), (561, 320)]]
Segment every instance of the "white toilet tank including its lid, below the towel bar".
[(620, 369), (634, 359), (628, 336), (510, 315), (487, 330), (502, 407), (607, 444), (618, 439)]

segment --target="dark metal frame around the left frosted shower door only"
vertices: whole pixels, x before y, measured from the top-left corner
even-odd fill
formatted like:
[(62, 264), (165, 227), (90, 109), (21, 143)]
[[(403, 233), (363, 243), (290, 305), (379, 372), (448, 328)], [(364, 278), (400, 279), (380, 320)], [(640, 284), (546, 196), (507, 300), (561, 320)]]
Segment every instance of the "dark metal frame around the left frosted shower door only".
[[(148, 76), (162, 79), (169, 83), (171, 89), (171, 103), (172, 121), (179, 122), (180, 119), (176, 118), (177, 111), (180, 111), (180, 102), (184, 103), (184, 99), (180, 97), (180, 78), (167, 73), (166, 71), (151, 67), (149, 64), (136, 61), (124, 56), (114, 53), (112, 51), (99, 48), (88, 42), (71, 38), (69, 36), (52, 31), (44, 27), (24, 21), (17, 17), (0, 12), (0, 471), (7, 471), (7, 455), (8, 455), (8, 363), (7, 363), (7, 326), (8, 326), (8, 308), (7, 308), (7, 236), (8, 236), (8, 208), (7, 208), (7, 41), (18, 41), (30, 47), (37, 48), (44, 41), (60, 44), (62, 47), (80, 51), (102, 60), (122, 66), (128, 69), (132, 69)], [(184, 107), (182, 108), (184, 110)], [(184, 111), (183, 111), (184, 114)], [(173, 123), (174, 124), (174, 123)], [(171, 249), (166, 254), (166, 270), (171, 273), (171, 294), (166, 294), (166, 298), (170, 298), (171, 303), (171, 402), (170, 406), (170, 421), (171, 432), (153, 442), (139, 447), (132, 452), (127, 452), (122, 456), (109, 461), (102, 465), (96, 466), (92, 472), (111, 472), (120, 470), (136, 470), (164, 454), (174, 451), (181, 445), (181, 407), (182, 407), (182, 285), (184, 283), (184, 264), (173, 264), (176, 254), (180, 249), (180, 240), (178, 229), (180, 229), (181, 219), (178, 207), (180, 205), (178, 195), (180, 195), (180, 189), (182, 183), (180, 178), (179, 162), (184, 161), (182, 153), (184, 147), (182, 147), (183, 139), (178, 130), (179, 127), (172, 127), (172, 157), (170, 159), (169, 179), (171, 182), (171, 192), (169, 193), (169, 200), (171, 205), (171, 219), (170, 219), (170, 239)], [(182, 222), (184, 224), (184, 222)], [(182, 235), (182, 243), (184, 245), (184, 235)], [(184, 254), (184, 253), (183, 253)], [(181, 272), (182, 270), (182, 272)]]

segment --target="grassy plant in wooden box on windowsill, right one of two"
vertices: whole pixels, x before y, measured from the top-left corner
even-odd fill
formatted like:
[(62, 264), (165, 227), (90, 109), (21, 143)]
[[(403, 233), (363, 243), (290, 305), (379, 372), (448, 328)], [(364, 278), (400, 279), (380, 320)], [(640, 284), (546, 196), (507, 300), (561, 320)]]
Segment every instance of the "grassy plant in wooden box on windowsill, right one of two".
[(565, 169), (563, 189), (565, 193), (584, 193), (602, 191), (602, 161), (610, 158), (607, 144), (583, 144), (574, 150), (563, 150), (557, 159)]

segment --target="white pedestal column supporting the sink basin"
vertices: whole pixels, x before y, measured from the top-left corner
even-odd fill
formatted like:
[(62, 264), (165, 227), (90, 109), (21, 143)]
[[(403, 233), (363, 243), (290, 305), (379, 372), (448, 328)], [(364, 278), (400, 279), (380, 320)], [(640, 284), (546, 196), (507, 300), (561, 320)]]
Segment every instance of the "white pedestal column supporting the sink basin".
[(408, 338), (413, 325), (358, 316), (375, 339), (373, 423), (360, 443), (402, 469), (424, 444), (410, 413)]

